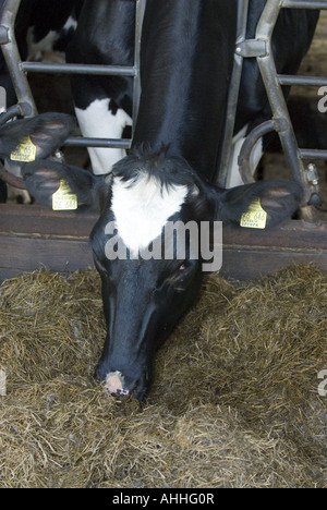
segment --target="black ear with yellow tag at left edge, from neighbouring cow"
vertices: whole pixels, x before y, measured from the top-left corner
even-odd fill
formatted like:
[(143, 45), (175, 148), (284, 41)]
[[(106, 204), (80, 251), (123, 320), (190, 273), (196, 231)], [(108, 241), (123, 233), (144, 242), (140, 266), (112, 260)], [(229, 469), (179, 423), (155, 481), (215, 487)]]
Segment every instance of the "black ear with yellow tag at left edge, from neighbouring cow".
[(21, 163), (48, 158), (75, 126), (75, 119), (65, 113), (43, 113), (9, 122), (0, 127), (0, 154)]

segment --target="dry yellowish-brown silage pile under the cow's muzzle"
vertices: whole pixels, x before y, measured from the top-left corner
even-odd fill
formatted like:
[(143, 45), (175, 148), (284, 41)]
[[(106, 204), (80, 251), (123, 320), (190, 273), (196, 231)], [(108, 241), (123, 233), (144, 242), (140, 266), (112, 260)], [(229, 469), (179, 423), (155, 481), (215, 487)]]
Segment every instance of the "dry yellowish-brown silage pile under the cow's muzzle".
[(327, 486), (327, 274), (211, 276), (143, 404), (93, 379), (95, 272), (7, 281), (0, 309), (0, 487)]

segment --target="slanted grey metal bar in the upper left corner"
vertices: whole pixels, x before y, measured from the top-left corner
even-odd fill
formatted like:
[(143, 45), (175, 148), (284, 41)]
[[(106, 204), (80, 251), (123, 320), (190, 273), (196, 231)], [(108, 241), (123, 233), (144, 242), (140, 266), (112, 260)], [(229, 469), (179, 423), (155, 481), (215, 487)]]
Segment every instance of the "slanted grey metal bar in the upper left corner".
[(34, 117), (37, 114), (37, 109), (28, 81), (20, 66), (21, 56), (15, 39), (15, 20), (20, 4), (21, 0), (7, 0), (3, 5), (0, 24), (2, 26), (2, 32), (7, 31), (8, 38), (7, 40), (2, 40), (2, 52), (15, 88), (17, 100), (22, 106), (25, 106), (24, 116)]

